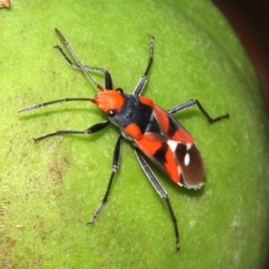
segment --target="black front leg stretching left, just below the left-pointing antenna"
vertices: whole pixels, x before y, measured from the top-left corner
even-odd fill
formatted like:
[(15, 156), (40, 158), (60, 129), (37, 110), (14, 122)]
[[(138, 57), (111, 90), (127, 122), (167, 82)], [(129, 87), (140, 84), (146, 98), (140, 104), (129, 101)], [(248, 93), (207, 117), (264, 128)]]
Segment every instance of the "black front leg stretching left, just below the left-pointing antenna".
[(48, 137), (55, 136), (55, 135), (60, 135), (60, 134), (93, 134), (93, 133), (101, 131), (102, 129), (107, 127), (109, 124), (110, 124), (109, 120), (106, 120), (106, 121), (104, 121), (102, 123), (98, 123), (98, 124), (96, 124), (94, 126), (91, 126), (88, 129), (82, 130), (82, 131), (80, 131), (80, 130), (59, 130), (59, 131), (56, 131), (54, 133), (45, 134), (45, 135), (40, 136), (38, 138), (34, 138), (34, 141), (38, 142), (38, 141), (46, 139)]

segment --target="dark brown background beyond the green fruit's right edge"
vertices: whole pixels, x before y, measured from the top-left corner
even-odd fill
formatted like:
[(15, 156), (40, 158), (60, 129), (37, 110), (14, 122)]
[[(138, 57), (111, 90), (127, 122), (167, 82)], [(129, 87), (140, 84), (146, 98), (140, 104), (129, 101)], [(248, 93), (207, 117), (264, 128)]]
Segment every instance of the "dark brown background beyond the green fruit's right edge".
[[(269, 115), (269, 0), (212, 2), (226, 16), (246, 49), (256, 69)], [(265, 269), (269, 268), (269, 249), (267, 253)]]

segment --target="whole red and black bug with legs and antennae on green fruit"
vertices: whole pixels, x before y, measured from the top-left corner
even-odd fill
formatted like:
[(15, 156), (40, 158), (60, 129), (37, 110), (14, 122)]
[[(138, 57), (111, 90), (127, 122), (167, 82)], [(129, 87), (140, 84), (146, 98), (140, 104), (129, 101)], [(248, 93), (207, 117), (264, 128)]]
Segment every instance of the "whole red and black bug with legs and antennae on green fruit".
[[(55, 133), (45, 134), (38, 138), (34, 138), (35, 142), (46, 139), (50, 136), (60, 134), (93, 134), (99, 132), (113, 124), (118, 126), (121, 134), (117, 138), (114, 149), (112, 168), (108, 180), (108, 187), (101, 200), (100, 206), (94, 213), (91, 221), (87, 224), (94, 224), (104, 205), (108, 201), (109, 191), (113, 182), (113, 178), (119, 167), (121, 142), (126, 139), (133, 143), (134, 153), (141, 165), (145, 175), (152, 184), (156, 192), (165, 200), (171, 221), (173, 223), (176, 250), (179, 250), (179, 233), (178, 222), (172, 206), (169, 202), (169, 195), (161, 183), (154, 175), (152, 169), (144, 158), (150, 159), (159, 169), (161, 169), (173, 182), (179, 186), (187, 188), (200, 188), (204, 185), (204, 164), (201, 153), (198, 151), (193, 137), (187, 133), (187, 130), (181, 126), (173, 114), (179, 111), (196, 105), (209, 123), (214, 123), (222, 118), (229, 117), (229, 114), (221, 117), (210, 117), (209, 114), (202, 107), (198, 100), (187, 100), (167, 111), (154, 104), (153, 100), (141, 96), (141, 93), (148, 80), (148, 74), (152, 67), (153, 61), (153, 45), (154, 37), (151, 36), (150, 42), (150, 56), (148, 64), (146, 65), (143, 76), (134, 88), (133, 94), (126, 93), (121, 88), (113, 90), (112, 79), (108, 70), (102, 67), (94, 67), (83, 65), (78, 58), (71, 44), (65, 39), (64, 35), (56, 29), (56, 34), (65, 43), (65, 47), (74, 57), (76, 64), (74, 64), (66, 55), (64, 50), (56, 45), (55, 48), (64, 56), (69, 65), (75, 69), (82, 69), (83, 73), (89, 78), (93, 85), (100, 91), (95, 95), (95, 98), (66, 98), (61, 100), (52, 100), (38, 105), (33, 105), (28, 108), (22, 108), (18, 112), (25, 112), (34, 108), (45, 107), (64, 101), (90, 101), (95, 104), (100, 110), (105, 112), (108, 119), (102, 123), (95, 124), (86, 130), (59, 130)], [(100, 72), (104, 74), (105, 87), (103, 88), (95, 82), (90, 72)], [(143, 154), (142, 154), (143, 152)]]

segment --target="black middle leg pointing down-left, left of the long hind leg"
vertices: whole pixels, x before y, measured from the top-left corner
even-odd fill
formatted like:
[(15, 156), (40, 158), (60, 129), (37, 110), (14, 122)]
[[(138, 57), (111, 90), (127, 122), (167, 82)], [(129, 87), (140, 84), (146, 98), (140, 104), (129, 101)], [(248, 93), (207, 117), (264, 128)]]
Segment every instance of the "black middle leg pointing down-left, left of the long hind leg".
[(99, 214), (101, 213), (101, 211), (103, 210), (105, 204), (108, 201), (108, 195), (112, 186), (112, 182), (113, 182), (113, 178), (117, 172), (118, 166), (119, 166), (119, 157), (120, 157), (120, 150), (121, 150), (121, 140), (122, 140), (123, 136), (119, 135), (117, 138), (117, 142), (115, 145), (115, 149), (114, 149), (114, 153), (113, 153), (113, 160), (112, 160), (112, 169), (111, 169), (111, 174), (110, 174), (110, 178), (108, 181), (108, 187), (107, 190), (105, 192), (105, 195), (103, 196), (103, 199), (101, 200), (100, 206), (98, 207), (98, 209), (96, 210), (96, 212), (94, 213), (91, 221), (87, 222), (87, 225), (92, 225), (94, 224), (94, 222), (96, 221), (97, 217), (99, 216)]

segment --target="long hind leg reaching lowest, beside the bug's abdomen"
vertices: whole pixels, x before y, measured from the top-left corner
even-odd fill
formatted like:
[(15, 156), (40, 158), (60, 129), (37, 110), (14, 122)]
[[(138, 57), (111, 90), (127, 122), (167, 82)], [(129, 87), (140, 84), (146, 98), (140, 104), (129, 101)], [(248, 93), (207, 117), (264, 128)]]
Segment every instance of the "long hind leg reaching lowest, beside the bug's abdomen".
[(141, 156), (141, 153), (138, 152), (137, 149), (134, 149), (134, 153), (135, 153), (137, 160), (138, 160), (139, 164), (141, 165), (144, 173), (146, 174), (146, 176), (149, 178), (150, 182), (152, 183), (152, 186), (155, 188), (156, 192), (161, 196), (162, 199), (165, 200), (166, 204), (168, 205), (169, 214), (170, 214), (171, 220), (172, 220), (173, 225), (174, 225), (174, 230), (175, 230), (176, 251), (178, 251), (180, 248), (179, 233), (178, 233), (178, 221), (176, 219), (176, 216), (175, 216), (173, 209), (172, 209), (172, 206), (170, 204), (169, 196), (168, 196), (167, 192), (165, 191), (165, 189), (161, 186), (161, 183), (158, 181), (156, 176), (153, 174), (152, 169), (149, 167), (147, 162)]

